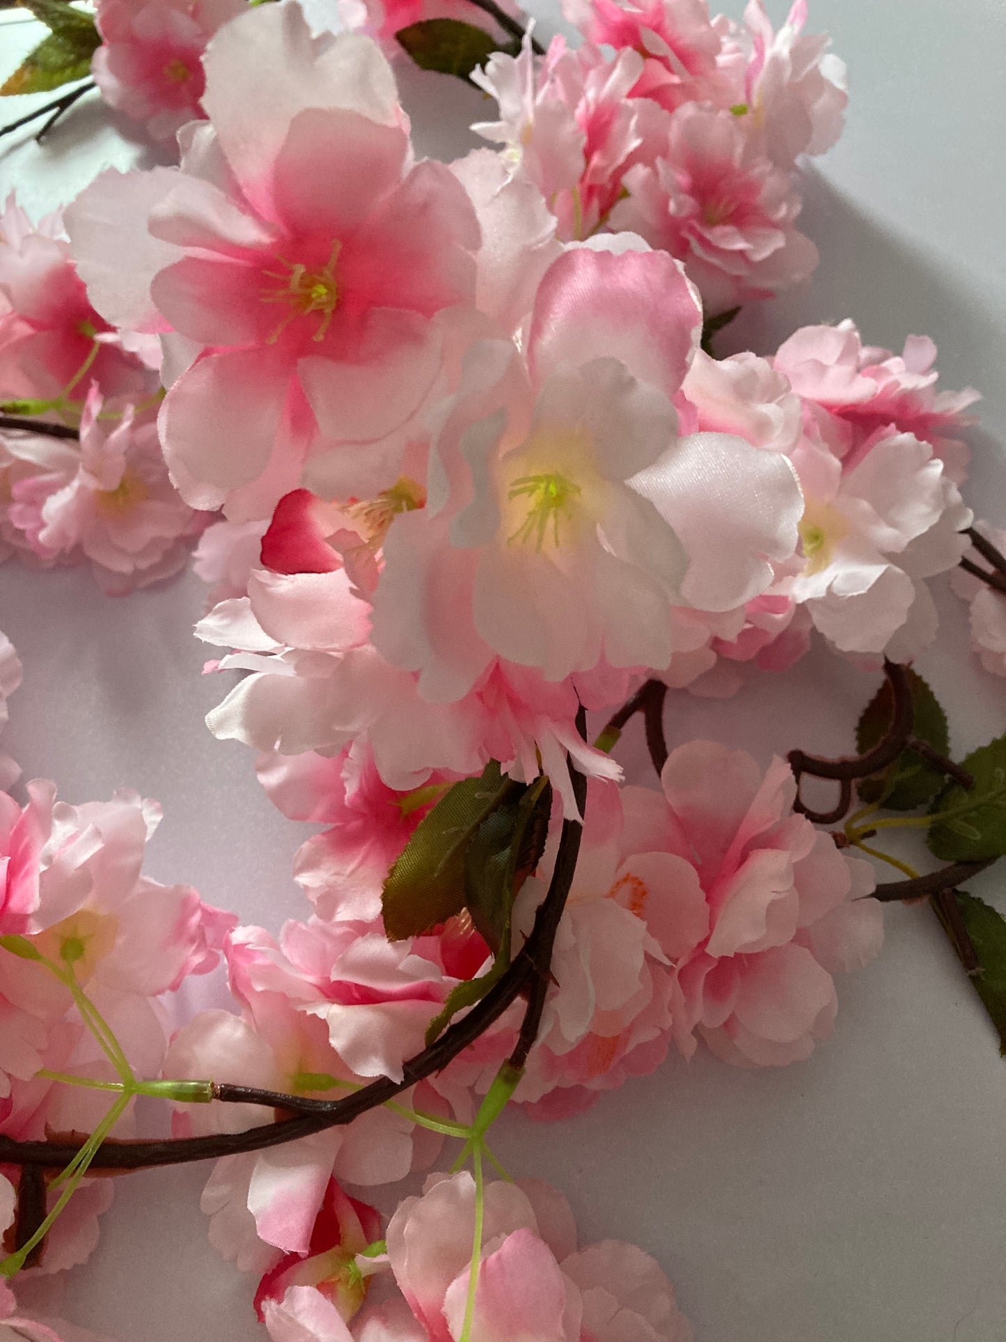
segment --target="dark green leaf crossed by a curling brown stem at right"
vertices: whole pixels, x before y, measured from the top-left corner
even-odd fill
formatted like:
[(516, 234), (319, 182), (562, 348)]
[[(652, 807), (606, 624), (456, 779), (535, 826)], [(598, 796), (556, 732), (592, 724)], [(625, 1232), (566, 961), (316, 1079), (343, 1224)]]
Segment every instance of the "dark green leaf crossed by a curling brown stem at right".
[[(947, 727), (947, 714), (943, 711), (939, 699), (930, 686), (915, 671), (907, 670), (908, 684), (912, 691), (912, 706), (915, 709), (915, 725), (912, 734), (926, 741), (942, 756), (950, 754), (950, 731)], [(860, 754), (872, 750), (887, 734), (893, 719), (895, 701), (891, 692), (889, 680), (884, 680), (877, 694), (871, 699), (862, 711), (862, 717), (856, 727), (856, 746)], [(864, 778), (858, 784), (858, 793), (864, 801), (880, 801), (891, 811), (913, 811), (924, 805), (943, 786), (943, 774), (939, 769), (926, 764), (913, 750), (904, 750), (884, 773)], [(885, 796), (885, 789), (891, 790)]]

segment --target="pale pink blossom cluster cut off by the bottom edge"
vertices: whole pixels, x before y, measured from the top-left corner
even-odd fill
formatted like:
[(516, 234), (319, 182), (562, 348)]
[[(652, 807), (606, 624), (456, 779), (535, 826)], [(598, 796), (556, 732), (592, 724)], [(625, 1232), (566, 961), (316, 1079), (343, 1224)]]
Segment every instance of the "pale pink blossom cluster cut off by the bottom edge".
[(431, 1174), (398, 1205), (377, 1255), (365, 1252), (377, 1239), (373, 1208), (334, 1184), (329, 1201), (313, 1252), (263, 1278), (258, 1304), (272, 1342), (692, 1342), (653, 1259), (614, 1240), (578, 1248), (569, 1204), (539, 1181), (486, 1186), (471, 1307), (471, 1174)]

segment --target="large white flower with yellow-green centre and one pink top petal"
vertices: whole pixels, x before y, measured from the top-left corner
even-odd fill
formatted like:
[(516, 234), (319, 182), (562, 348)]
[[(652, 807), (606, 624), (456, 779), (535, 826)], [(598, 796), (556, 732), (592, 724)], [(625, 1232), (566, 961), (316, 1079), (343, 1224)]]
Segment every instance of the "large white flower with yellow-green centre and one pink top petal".
[[(557, 682), (602, 662), (663, 668), (673, 607), (727, 609), (771, 580), (789, 463), (726, 435), (676, 439), (697, 318), (679, 267), (620, 240), (550, 267), (526, 364), (472, 346), (433, 443), (440, 487), (396, 519), (373, 597), (376, 647), (420, 671), (424, 696), (461, 698), (494, 655)], [(763, 472), (771, 518), (748, 511), (739, 531), (731, 507), (720, 537), (722, 488), (714, 502), (700, 483), (714, 460), (747, 497)]]

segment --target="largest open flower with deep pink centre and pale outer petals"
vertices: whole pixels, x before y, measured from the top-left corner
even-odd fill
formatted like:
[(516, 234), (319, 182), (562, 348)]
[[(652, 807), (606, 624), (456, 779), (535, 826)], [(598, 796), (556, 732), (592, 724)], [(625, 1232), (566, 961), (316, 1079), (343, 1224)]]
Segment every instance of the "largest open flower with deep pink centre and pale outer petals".
[(146, 302), (174, 331), (160, 431), (193, 507), (264, 517), (335, 450), (368, 497), (400, 474), (386, 463), (440, 372), (439, 314), (473, 297), (475, 212), (447, 166), (413, 165), (369, 39), (314, 39), (298, 5), (264, 7), (220, 30), (205, 70), (211, 125), (181, 172), (99, 177), (70, 211), (78, 251), (103, 291), (118, 239), (95, 220), (113, 193), (145, 196), (153, 247), (134, 243), (106, 311)]

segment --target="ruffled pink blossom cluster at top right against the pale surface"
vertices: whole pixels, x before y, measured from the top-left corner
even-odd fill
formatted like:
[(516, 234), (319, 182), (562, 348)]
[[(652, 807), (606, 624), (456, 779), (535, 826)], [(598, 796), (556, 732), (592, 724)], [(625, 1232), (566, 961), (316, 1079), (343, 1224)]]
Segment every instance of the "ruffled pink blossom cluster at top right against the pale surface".
[(500, 119), (475, 129), (533, 181), (559, 236), (640, 234), (676, 256), (711, 313), (805, 279), (794, 168), (842, 129), (845, 66), (803, 31), (806, 0), (773, 30), (706, 0), (566, 0), (582, 43), (495, 54), (475, 81)]

